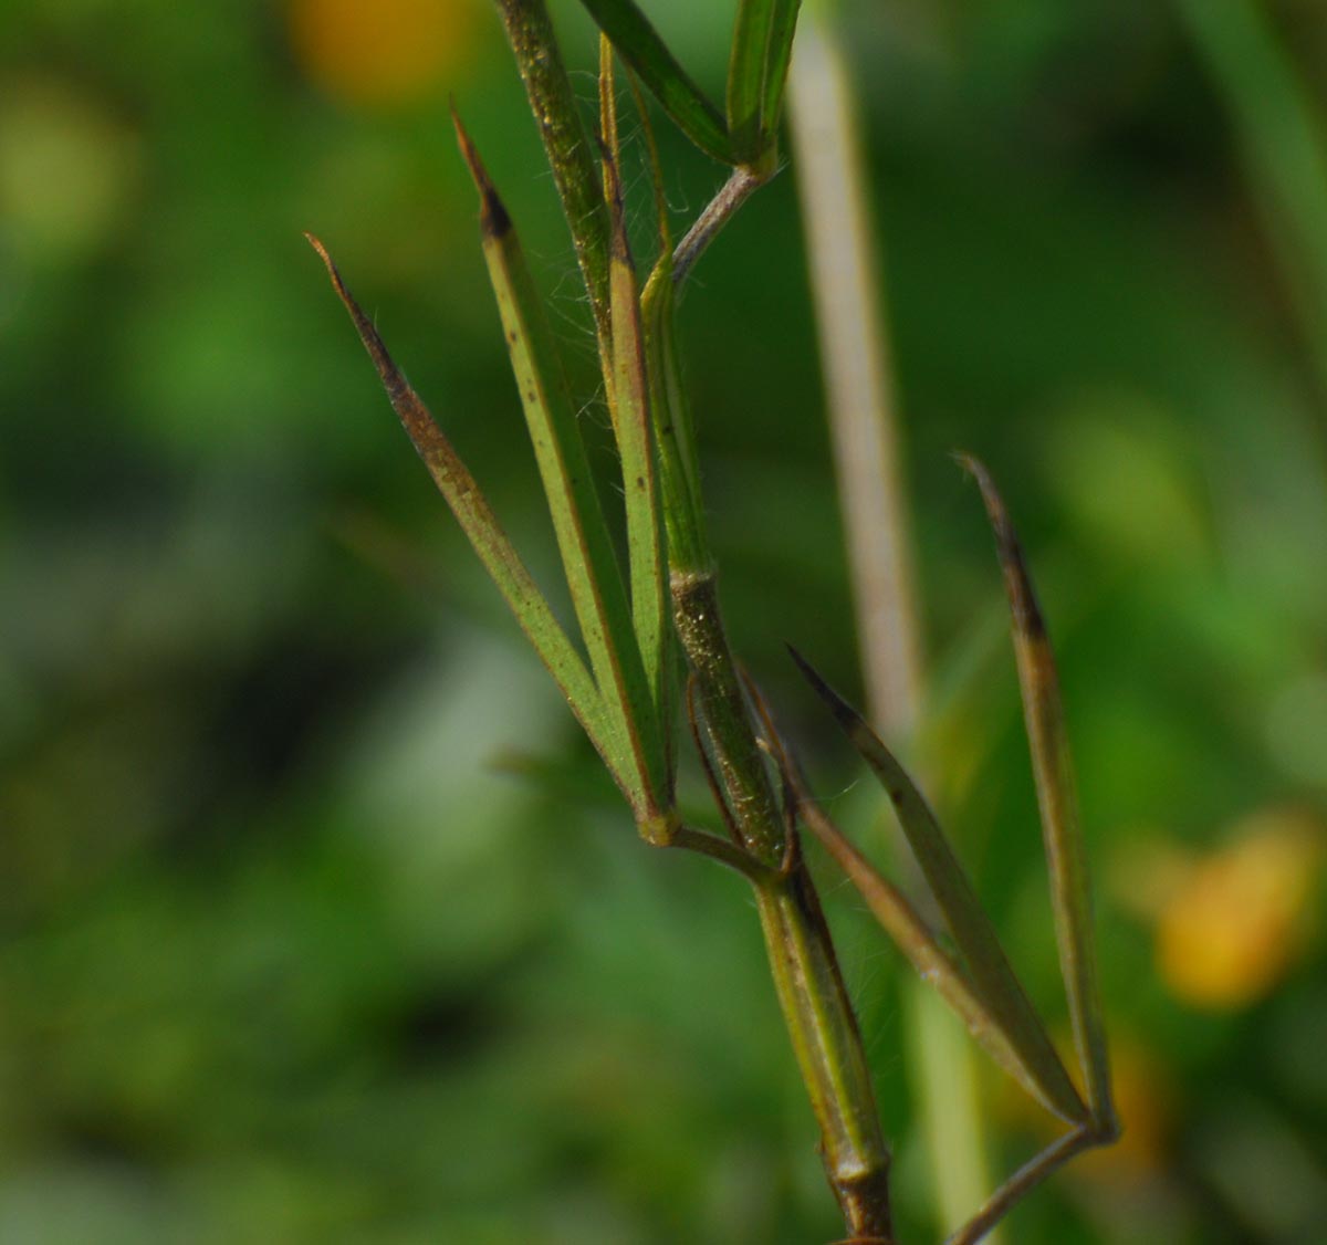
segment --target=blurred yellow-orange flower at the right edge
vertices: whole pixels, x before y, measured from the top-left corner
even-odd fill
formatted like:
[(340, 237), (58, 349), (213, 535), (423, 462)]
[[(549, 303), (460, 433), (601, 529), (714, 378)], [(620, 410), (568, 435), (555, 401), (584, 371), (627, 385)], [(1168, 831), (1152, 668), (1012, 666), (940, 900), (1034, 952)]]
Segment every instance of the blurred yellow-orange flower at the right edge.
[(1213, 1010), (1265, 995), (1303, 944), (1322, 848), (1316, 822), (1269, 810), (1193, 863), (1157, 917), (1157, 970), (1169, 989)]

